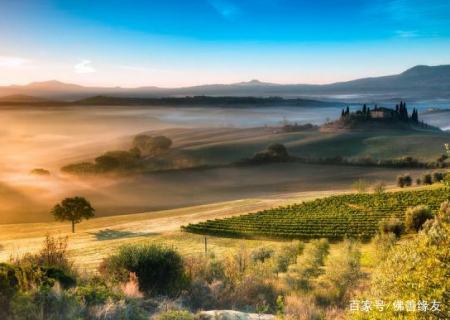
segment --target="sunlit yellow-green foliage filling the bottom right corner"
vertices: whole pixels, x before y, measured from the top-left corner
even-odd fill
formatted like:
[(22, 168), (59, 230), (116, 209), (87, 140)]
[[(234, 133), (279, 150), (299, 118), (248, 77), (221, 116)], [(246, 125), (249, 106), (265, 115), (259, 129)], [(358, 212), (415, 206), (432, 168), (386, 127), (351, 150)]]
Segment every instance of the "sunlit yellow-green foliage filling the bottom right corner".
[(370, 290), (363, 299), (379, 299), (386, 303), (400, 301), (433, 301), (439, 308), (414, 315), (406, 310), (385, 308), (379, 311), (355, 312), (356, 319), (448, 319), (450, 313), (450, 206), (442, 204), (439, 213), (412, 238), (392, 246), (374, 271)]

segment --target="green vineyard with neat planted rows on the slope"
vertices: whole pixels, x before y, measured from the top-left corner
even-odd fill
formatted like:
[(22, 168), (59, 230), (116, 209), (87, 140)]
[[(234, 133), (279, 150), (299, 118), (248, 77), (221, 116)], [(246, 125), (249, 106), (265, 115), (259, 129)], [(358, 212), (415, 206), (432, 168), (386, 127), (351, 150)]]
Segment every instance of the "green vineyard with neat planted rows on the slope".
[(403, 218), (408, 207), (425, 204), (436, 211), (450, 199), (444, 188), (380, 194), (348, 194), (259, 211), (246, 215), (207, 220), (183, 226), (192, 233), (227, 237), (367, 240), (380, 220)]

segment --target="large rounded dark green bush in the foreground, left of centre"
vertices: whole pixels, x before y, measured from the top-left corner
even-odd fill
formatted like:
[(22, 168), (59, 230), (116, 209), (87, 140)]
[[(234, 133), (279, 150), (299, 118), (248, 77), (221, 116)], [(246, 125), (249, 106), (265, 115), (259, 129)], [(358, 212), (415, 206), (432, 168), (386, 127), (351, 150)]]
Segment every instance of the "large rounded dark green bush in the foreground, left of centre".
[(100, 272), (120, 282), (127, 281), (130, 272), (134, 272), (139, 289), (156, 295), (177, 294), (187, 281), (181, 256), (173, 249), (154, 244), (121, 247), (103, 261)]

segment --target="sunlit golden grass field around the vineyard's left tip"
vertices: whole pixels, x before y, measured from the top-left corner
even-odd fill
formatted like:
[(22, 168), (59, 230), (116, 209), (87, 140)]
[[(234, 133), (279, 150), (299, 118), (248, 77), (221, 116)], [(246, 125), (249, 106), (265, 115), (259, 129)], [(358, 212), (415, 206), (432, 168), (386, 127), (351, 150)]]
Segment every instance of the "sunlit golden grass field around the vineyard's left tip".
[[(201, 253), (204, 250), (204, 237), (181, 233), (179, 231), (181, 225), (273, 208), (335, 193), (336, 191), (303, 192), (267, 199), (228, 201), (132, 216), (95, 218), (77, 225), (75, 234), (70, 233), (69, 223), (0, 225), (0, 261), (5, 261), (10, 256), (38, 250), (47, 233), (53, 236), (69, 236), (69, 251), (72, 258), (77, 266), (87, 270), (93, 270), (106, 255), (125, 243), (155, 241), (174, 246), (184, 254)], [(210, 238), (209, 248), (220, 254), (229, 248), (239, 248), (242, 244), (254, 247), (262, 243), (268, 242)], [(270, 243), (279, 245), (277, 242)]]

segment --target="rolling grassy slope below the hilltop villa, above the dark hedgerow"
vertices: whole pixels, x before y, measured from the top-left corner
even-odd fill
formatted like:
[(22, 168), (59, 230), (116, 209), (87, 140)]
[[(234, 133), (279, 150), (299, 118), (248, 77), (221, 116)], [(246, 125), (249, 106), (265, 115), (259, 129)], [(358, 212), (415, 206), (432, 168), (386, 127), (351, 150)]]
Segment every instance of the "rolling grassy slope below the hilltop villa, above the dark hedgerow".
[[(224, 164), (250, 157), (273, 142), (283, 143), (300, 157), (366, 157), (392, 159), (412, 156), (436, 160), (450, 141), (448, 132), (380, 130), (370, 132), (273, 133), (270, 128), (168, 130), (175, 146), (204, 163)], [(193, 142), (194, 141), (194, 142)], [(426, 146), (426, 152), (424, 148)]]

